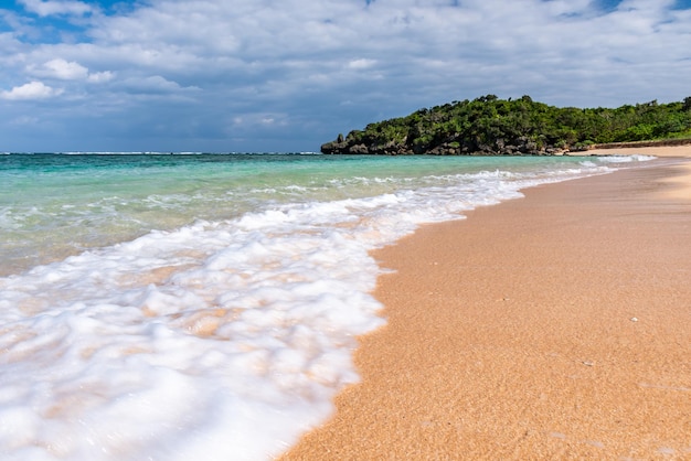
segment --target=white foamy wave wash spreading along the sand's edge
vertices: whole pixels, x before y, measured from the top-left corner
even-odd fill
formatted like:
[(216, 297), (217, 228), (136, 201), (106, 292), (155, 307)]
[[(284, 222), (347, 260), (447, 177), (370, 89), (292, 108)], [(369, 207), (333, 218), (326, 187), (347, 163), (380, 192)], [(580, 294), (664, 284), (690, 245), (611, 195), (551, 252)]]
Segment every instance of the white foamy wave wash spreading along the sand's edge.
[(523, 187), (606, 171), (429, 178), (151, 232), (2, 278), (2, 459), (278, 454), (358, 380), (354, 337), (384, 322), (369, 250)]

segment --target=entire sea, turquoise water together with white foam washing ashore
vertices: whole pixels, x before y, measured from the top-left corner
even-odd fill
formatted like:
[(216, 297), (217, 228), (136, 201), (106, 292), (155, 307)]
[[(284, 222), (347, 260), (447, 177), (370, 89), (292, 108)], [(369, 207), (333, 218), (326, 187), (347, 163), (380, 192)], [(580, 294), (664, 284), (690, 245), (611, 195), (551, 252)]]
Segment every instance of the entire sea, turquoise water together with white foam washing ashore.
[(370, 250), (649, 159), (0, 156), (0, 458), (270, 459), (358, 382)]

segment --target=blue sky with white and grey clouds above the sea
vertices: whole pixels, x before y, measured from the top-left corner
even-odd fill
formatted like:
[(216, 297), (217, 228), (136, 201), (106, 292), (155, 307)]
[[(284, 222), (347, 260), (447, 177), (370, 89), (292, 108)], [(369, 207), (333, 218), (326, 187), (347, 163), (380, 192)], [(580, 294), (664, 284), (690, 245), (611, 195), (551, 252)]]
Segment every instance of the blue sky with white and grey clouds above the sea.
[(691, 0), (0, 0), (0, 152), (318, 151), (493, 94), (691, 96)]

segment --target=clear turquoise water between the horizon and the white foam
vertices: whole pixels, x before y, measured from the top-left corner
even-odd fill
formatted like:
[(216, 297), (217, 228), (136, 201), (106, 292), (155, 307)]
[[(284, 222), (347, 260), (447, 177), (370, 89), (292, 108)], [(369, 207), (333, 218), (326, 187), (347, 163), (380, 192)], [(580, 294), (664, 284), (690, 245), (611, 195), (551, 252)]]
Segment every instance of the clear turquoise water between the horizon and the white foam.
[(1, 156), (0, 275), (151, 229), (234, 218), (275, 204), (366, 197), (507, 167), (577, 164), (556, 158)]

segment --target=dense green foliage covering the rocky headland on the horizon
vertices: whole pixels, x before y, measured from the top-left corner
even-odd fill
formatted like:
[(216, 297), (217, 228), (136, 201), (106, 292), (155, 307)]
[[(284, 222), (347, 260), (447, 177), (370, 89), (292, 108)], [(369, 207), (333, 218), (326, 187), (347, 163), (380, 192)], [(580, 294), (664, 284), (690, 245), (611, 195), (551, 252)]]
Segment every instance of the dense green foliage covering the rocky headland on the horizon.
[(593, 143), (691, 137), (691, 97), (616, 109), (554, 107), (495, 95), (370, 124), (321, 147), (325, 153), (554, 153)]

